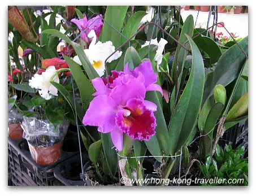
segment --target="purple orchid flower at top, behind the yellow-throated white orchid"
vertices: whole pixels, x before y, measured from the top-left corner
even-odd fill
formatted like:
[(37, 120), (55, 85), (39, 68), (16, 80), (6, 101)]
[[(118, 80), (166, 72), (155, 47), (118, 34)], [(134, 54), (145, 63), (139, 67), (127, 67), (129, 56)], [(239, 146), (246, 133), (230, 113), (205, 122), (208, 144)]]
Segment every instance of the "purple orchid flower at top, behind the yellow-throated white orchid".
[[(78, 20), (78, 19), (72, 19), (71, 20), (71, 22), (75, 23), (77, 25), (77, 27), (80, 29), (80, 31), (82, 32), (81, 33), (81, 39), (83, 41), (85, 41), (86, 43), (90, 42), (90, 40), (87, 36), (90, 31), (94, 30), (95, 33), (96, 33), (97, 38), (101, 34), (101, 29), (102, 29), (102, 26), (103, 26), (103, 22), (102, 22), (102, 19), (99, 19), (100, 17), (102, 17), (101, 14), (92, 18), (92, 19), (89, 19), (89, 20), (87, 20), (86, 16), (84, 16), (84, 18), (80, 19), (80, 20)], [(96, 20), (96, 21), (94, 22), (94, 20)], [(90, 24), (92, 24), (92, 25), (90, 25)], [(90, 25), (90, 27), (89, 27), (89, 25)], [(88, 28), (88, 29), (86, 29), (86, 28)], [(86, 29), (86, 31), (83, 32), (85, 29)]]

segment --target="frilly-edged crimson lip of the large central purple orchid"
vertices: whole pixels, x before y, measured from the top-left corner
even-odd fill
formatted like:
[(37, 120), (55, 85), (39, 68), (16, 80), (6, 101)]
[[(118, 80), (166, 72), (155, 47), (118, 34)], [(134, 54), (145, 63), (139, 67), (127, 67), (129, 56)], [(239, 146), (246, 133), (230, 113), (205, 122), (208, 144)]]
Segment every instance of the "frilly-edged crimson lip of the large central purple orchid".
[[(131, 115), (124, 116), (124, 108)], [(157, 126), (153, 111), (147, 110), (143, 99), (130, 99), (124, 108), (119, 108), (115, 122), (119, 129), (135, 140), (150, 140)]]

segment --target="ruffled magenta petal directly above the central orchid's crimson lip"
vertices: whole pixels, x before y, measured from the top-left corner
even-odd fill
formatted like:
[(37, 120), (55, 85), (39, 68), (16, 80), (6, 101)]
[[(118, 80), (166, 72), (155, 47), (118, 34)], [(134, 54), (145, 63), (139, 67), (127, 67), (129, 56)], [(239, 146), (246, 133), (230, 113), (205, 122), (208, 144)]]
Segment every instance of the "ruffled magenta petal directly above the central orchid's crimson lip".
[(143, 84), (144, 77), (140, 73), (139, 76), (123, 75), (114, 80), (115, 88), (112, 89), (110, 97), (119, 105), (125, 106), (131, 98), (145, 98), (146, 89)]

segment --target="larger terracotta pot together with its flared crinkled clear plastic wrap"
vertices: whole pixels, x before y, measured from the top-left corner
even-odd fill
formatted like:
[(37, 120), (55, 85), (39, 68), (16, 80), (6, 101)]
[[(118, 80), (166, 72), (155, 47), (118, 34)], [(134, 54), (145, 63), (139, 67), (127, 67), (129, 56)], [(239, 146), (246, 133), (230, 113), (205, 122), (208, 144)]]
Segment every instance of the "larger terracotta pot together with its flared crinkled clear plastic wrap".
[(23, 137), (28, 141), (29, 151), (37, 164), (49, 165), (57, 162), (62, 156), (63, 139), (67, 133), (68, 121), (54, 129), (49, 120), (38, 120), (34, 117), (23, 117), (21, 127)]

